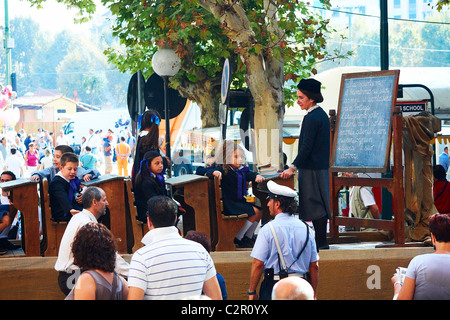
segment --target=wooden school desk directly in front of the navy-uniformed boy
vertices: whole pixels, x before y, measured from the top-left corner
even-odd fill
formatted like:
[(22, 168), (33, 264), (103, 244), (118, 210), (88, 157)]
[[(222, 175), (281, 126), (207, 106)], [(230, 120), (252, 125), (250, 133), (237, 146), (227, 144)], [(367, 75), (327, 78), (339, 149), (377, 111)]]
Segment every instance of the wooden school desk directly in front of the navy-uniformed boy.
[(99, 187), (105, 191), (106, 199), (109, 203), (110, 230), (117, 240), (117, 251), (121, 254), (128, 253), (124, 177), (115, 174), (106, 174), (89, 182), (83, 181), (82, 184), (86, 187)]

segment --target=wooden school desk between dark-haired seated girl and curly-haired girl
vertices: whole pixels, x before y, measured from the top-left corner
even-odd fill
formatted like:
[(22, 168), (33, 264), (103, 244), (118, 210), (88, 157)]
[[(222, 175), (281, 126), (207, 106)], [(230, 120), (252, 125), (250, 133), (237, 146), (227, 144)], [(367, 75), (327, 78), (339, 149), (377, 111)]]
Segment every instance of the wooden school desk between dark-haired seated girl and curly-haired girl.
[(171, 187), (183, 188), (184, 202), (195, 212), (195, 230), (211, 236), (208, 181), (204, 176), (186, 174), (166, 179), (165, 182)]

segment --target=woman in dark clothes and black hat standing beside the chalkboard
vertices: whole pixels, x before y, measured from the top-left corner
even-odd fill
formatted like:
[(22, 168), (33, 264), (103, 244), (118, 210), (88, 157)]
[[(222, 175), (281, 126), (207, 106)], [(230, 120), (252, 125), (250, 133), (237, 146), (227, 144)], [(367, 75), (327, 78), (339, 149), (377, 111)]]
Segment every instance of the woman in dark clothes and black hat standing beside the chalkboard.
[(320, 86), (315, 79), (302, 79), (297, 85), (297, 103), (307, 114), (302, 121), (297, 157), (280, 176), (287, 179), (298, 170), (299, 217), (312, 221), (317, 249), (328, 249), (330, 120), (317, 105), (323, 101)]

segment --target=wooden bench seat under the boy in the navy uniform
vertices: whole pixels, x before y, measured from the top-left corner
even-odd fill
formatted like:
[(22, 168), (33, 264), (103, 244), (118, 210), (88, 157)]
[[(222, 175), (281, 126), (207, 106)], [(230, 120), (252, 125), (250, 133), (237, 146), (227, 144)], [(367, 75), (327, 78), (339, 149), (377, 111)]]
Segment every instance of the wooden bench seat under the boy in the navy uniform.
[(66, 231), (67, 221), (56, 222), (53, 221), (52, 211), (50, 208), (50, 195), (48, 193), (48, 181), (43, 179), (40, 183), (40, 196), (41, 196), (41, 219), (43, 230), (43, 243), (44, 249), (43, 256), (55, 257), (58, 256), (59, 245), (61, 239)]

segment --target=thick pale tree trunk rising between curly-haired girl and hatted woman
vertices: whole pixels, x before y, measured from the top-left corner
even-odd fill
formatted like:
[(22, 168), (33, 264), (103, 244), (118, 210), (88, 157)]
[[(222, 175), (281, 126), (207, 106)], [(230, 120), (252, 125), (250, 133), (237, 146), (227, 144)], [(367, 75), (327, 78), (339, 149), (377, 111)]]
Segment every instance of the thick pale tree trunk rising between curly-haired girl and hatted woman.
[[(266, 1), (265, 1), (266, 3)], [(246, 66), (246, 82), (255, 101), (256, 161), (258, 165), (272, 164), (281, 168), (282, 125), (284, 118), (284, 69), (283, 61), (263, 54), (249, 53), (256, 44), (255, 34), (250, 27), (245, 10), (239, 3), (230, 6), (227, 1), (218, 4), (215, 0), (199, 0), (199, 4), (211, 12), (223, 25), (232, 31), (233, 39), (241, 59)], [(277, 35), (274, 43), (281, 41), (277, 30), (276, 8), (270, 1), (265, 4), (268, 12), (268, 28)]]

